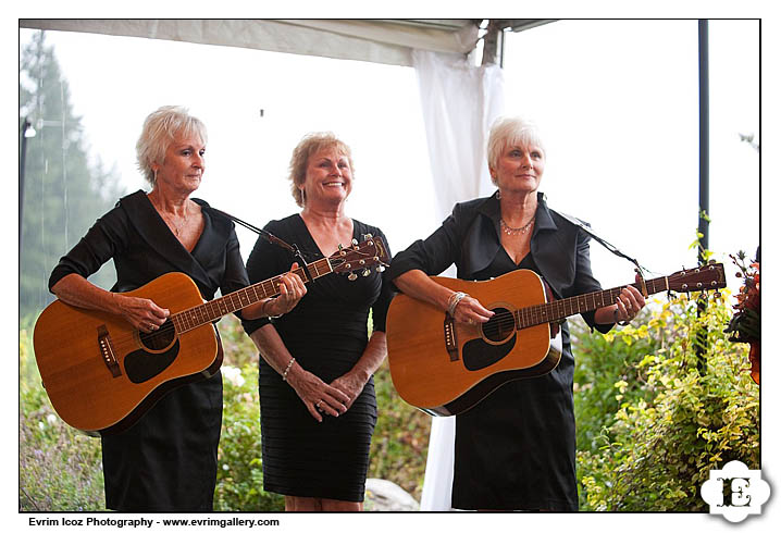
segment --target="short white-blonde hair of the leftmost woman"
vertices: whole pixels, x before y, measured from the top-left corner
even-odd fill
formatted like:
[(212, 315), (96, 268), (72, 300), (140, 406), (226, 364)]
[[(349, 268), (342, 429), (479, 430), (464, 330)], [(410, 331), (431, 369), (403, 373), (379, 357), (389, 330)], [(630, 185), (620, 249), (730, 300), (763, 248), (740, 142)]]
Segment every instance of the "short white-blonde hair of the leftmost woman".
[(144, 121), (136, 142), (136, 164), (152, 187), (156, 182), (152, 164), (165, 161), (165, 152), (177, 134), (197, 135), (207, 142), (206, 125), (181, 106), (163, 106)]

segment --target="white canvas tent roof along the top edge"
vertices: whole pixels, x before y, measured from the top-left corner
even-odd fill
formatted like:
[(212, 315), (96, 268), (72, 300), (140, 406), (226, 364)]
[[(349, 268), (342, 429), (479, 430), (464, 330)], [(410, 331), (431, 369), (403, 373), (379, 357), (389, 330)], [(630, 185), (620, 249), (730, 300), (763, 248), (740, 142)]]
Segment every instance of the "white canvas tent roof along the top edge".
[[(513, 32), (547, 20), (501, 21)], [(22, 18), (20, 26), (201, 45), (253, 48), (411, 66), (412, 50), (466, 54), (478, 44), (480, 20), (174, 20), (174, 18)]]

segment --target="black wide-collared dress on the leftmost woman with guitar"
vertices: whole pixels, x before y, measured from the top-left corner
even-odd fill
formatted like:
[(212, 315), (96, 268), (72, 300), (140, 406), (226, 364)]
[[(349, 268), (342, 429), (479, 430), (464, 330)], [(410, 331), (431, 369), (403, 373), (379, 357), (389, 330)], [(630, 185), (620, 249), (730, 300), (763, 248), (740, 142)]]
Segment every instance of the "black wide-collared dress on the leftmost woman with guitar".
[[(204, 227), (188, 252), (147, 195), (122, 198), (60, 260), (49, 287), (67, 274), (84, 277), (113, 258), (114, 292), (168, 272), (188, 274), (204, 299), (248, 285), (233, 223), (201, 206)], [(106, 507), (122, 511), (210, 511), (222, 424), (222, 375), (175, 388), (129, 430), (102, 437)]]

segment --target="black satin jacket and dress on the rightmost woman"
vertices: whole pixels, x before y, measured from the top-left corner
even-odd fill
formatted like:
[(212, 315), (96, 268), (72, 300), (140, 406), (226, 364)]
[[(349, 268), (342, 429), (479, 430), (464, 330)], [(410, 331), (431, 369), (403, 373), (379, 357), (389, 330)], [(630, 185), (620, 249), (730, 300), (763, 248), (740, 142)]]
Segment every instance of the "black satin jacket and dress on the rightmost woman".
[[(598, 290), (591, 273), (588, 236), (548, 209), (538, 196), (531, 251), (520, 264), (499, 238), (499, 202), (480, 198), (455, 207), (433, 235), (394, 259), (390, 280), (419, 269), (430, 275), (456, 263), (458, 277), (484, 281), (517, 269), (537, 272), (557, 298)], [(591, 326), (594, 312), (583, 313)], [(569, 330), (548, 374), (509, 382), (456, 417), (451, 505), (457, 509), (577, 510), (574, 358)], [(421, 355), (424, 357), (424, 355)]]

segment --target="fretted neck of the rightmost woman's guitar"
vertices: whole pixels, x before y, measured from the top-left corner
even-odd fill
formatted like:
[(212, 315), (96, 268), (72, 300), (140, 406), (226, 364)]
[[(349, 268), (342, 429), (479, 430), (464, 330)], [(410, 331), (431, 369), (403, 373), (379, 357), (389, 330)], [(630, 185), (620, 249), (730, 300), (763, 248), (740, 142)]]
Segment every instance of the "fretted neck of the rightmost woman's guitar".
[[(632, 283), (631, 285), (642, 293), (640, 283)], [(623, 290), (628, 285), (623, 285), (621, 287), (609, 288), (607, 290), (597, 290), (596, 293), (572, 296), (571, 298), (563, 298), (550, 303), (541, 303), (538, 306), (519, 309), (513, 312), (516, 324), (519, 330), (523, 330), (524, 327), (531, 327), (546, 322), (558, 322), (567, 317), (572, 317), (573, 314), (610, 306), (616, 303), (618, 295), (620, 295), (621, 290)], [(669, 290), (669, 280), (667, 276), (657, 277), (655, 280), (646, 280), (645, 288), (649, 295), (661, 293), (662, 290)]]

